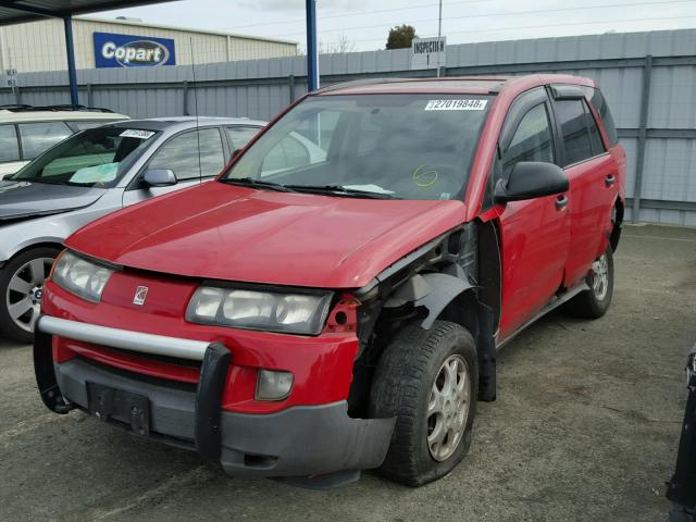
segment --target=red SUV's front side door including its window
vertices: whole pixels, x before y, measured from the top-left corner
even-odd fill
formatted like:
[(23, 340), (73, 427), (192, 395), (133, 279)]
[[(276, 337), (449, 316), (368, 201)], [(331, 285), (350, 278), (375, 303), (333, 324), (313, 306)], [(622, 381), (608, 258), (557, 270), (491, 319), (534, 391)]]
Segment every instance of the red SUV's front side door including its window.
[[(556, 163), (557, 147), (543, 88), (512, 104), (494, 176), (509, 177), (520, 161)], [(508, 202), (500, 214), (502, 303), (499, 340), (539, 312), (563, 282), (570, 245), (568, 194)]]

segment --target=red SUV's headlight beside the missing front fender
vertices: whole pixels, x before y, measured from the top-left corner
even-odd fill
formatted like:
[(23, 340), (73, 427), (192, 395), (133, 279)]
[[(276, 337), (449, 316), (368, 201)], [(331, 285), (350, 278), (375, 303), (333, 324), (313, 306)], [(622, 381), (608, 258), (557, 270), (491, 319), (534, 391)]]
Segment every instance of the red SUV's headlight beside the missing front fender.
[(194, 323), (315, 335), (322, 330), (331, 294), (278, 294), (201, 286), (186, 310)]

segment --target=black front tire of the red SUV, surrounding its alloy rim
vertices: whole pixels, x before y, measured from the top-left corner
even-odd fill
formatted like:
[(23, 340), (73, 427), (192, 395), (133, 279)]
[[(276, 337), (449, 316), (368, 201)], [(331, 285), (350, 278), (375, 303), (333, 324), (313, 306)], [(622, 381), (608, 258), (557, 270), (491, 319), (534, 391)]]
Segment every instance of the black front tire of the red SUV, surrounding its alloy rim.
[[(451, 445), (453, 452), (446, 460), (436, 460), (427, 443), (427, 408), (435, 380), (452, 357), (465, 361), (471, 383), (469, 412), (460, 423), (463, 434), (457, 445)], [(471, 446), (477, 390), (478, 359), (467, 330), (447, 321), (436, 321), (427, 331), (419, 324), (401, 330), (382, 355), (370, 395), (371, 418), (396, 417), (387, 456), (377, 471), (409, 486), (426, 484), (452, 471)]]

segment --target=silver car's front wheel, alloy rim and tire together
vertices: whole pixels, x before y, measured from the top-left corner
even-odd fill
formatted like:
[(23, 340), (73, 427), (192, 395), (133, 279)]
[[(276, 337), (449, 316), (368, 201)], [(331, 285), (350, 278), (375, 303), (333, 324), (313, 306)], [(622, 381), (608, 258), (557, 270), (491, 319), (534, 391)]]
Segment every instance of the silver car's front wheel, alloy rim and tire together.
[(4, 336), (32, 343), (44, 282), (59, 252), (51, 247), (35, 248), (12, 259), (0, 271), (0, 332)]

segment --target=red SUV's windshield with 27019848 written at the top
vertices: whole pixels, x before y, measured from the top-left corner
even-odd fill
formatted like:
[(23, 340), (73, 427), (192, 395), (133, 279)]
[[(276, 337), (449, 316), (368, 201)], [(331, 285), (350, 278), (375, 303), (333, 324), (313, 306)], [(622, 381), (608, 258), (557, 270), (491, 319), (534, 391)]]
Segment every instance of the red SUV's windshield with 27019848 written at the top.
[(460, 198), (490, 99), (310, 97), (265, 132), (221, 181), (353, 197)]

